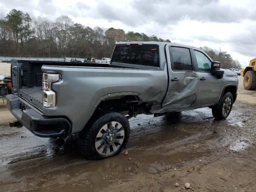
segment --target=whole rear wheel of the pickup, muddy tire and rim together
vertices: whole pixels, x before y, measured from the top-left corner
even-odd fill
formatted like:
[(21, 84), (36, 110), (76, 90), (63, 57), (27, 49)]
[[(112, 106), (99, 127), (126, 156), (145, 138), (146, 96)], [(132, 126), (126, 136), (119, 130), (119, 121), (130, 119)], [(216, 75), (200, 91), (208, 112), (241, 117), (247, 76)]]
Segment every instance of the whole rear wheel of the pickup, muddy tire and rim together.
[(80, 150), (88, 159), (108, 158), (122, 151), (129, 135), (127, 118), (118, 112), (106, 112), (79, 133)]

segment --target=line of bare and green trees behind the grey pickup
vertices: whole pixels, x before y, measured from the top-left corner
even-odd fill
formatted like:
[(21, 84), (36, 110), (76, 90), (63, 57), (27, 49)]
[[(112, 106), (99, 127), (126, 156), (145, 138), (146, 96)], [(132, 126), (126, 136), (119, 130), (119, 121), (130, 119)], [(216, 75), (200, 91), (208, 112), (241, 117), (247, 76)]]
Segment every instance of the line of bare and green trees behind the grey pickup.
[[(99, 26), (90, 28), (74, 23), (68, 16), (60, 16), (55, 21), (46, 18), (30, 18), (28, 13), (11, 10), (0, 18), (0, 55), (9, 57), (111, 57), (114, 45), (120, 41), (158, 41), (169, 39), (148, 36), (138, 32), (124, 32), (122, 29)], [(216, 51), (203, 49), (214, 60)], [(226, 52), (220, 53), (222, 67), (239, 68), (237, 60)]]

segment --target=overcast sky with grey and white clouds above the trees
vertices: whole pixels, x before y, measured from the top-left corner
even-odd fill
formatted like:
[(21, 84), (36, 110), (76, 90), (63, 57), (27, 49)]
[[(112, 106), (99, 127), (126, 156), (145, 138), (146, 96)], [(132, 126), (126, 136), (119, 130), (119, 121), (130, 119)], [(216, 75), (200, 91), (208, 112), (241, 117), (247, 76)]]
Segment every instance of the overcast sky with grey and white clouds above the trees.
[(226, 51), (242, 66), (256, 57), (254, 0), (0, 0), (31, 17), (67, 15), (94, 28), (121, 28), (191, 46)]

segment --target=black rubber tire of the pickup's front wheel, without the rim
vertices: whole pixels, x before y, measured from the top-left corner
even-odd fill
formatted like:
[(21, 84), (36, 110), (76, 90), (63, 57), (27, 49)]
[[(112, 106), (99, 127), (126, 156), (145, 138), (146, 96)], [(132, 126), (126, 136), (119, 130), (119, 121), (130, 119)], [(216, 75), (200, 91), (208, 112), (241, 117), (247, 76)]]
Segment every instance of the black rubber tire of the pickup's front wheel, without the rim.
[[(227, 98), (230, 98), (231, 103), (230, 103), (230, 109), (229, 109), (228, 113), (225, 114), (222, 109), (223, 109), (223, 107), (224, 107), (224, 102), (226, 101)], [(212, 108), (212, 115), (214, 116), (214, 118), (215, 118), (216, 120), (223, 120), (223, 119), (226, 119), (226, 118), (229, 116), (229, 114), (230, 114), (230, 112), (231, 112), (231, 110), (232, 110), (232, 106), (233, 106), (233, 95), (232, 95), (232, 93), (230, 93), (230, 92), (226, 92), (226, 93), (224, 93), (224, 95), (222, 96), (222, 98), (221, 98), (221, 100), (220, 100), (220, 104), (217, 105), (217, 106), (214, 106), (214, 107)]]

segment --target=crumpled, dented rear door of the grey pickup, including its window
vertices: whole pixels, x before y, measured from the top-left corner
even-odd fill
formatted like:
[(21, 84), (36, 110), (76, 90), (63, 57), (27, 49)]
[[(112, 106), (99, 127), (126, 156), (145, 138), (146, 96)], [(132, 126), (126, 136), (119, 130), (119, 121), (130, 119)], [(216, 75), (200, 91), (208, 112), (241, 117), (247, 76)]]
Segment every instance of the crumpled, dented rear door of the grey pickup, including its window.
[(169, 46), (169, 56), (169, 85), (162, 108), (178, 111), (190, 107), (196, 101), (198, 74), (194, 70), (189, 48)]

